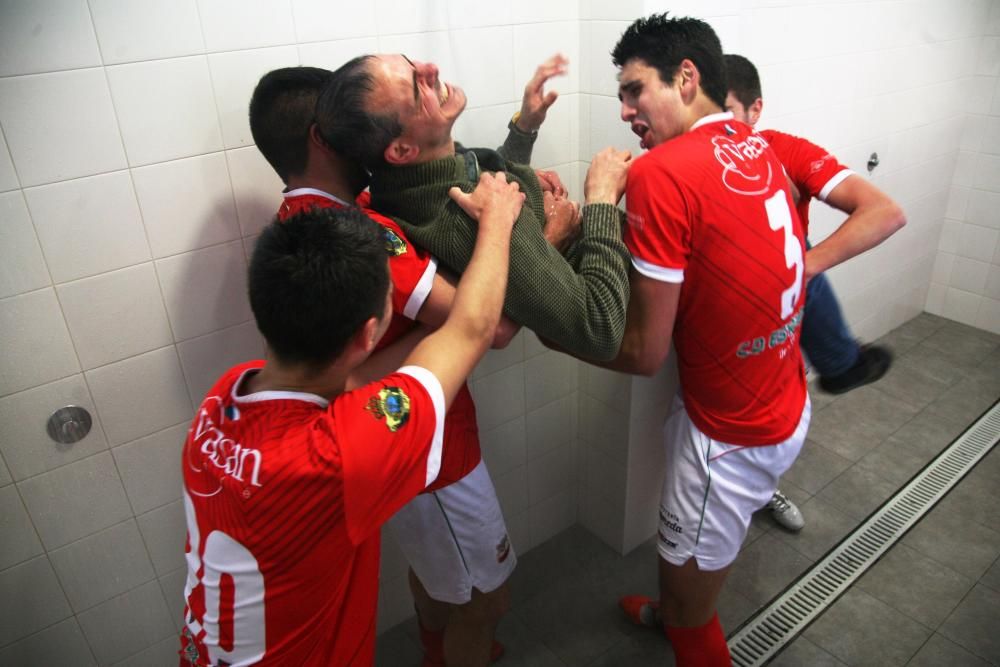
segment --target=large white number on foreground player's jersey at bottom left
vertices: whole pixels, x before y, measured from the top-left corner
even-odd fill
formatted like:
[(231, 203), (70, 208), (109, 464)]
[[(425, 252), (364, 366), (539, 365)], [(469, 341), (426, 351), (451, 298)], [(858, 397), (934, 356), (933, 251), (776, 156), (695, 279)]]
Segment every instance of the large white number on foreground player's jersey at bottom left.
[[(184, 599), (189, 609), (204, 609), (199, 623), (185, 619), (191, 634), (208, 649), (209, 662), (249, 665), (264, 657), (264, 576), (246, 547), (213, 530), (201, 549), (201, 535), (190, 496), (184, 494), (190, 551)], [(204, 568), (204, 569), (203, 569)], [(195, 600), (193, 596), (203, 596)]]

